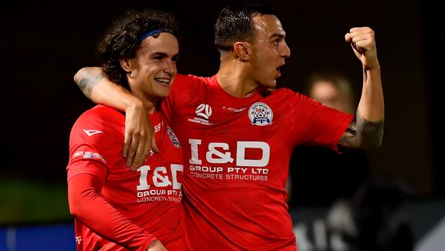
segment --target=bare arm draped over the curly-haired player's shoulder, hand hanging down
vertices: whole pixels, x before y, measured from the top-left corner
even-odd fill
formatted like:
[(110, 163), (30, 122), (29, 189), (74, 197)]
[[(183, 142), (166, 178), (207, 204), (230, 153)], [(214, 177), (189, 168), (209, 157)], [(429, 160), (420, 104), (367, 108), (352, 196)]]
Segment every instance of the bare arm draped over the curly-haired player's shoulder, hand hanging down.
[(108, 80), (99, 67), (80, 69), (74, 76), (74, 81), (94, 103), (125, 112), (122, 155), (127, 158), (127, 166), (131, 167), (131, 171), (136, 171), (144, 163), (150, 150), (158, 152), (154, 142), (153, 125), (140, 99)]

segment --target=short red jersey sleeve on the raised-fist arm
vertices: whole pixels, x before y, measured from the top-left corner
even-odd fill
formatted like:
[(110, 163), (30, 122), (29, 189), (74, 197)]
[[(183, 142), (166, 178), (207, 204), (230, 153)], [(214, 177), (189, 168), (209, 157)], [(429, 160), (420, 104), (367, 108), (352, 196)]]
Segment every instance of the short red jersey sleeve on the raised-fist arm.
[(298, 143), (323, 145), (338, 151), (338, 141), (354, 116), (323, 106), (301, 93), (290, 94), (293, 132), (301, 132)]

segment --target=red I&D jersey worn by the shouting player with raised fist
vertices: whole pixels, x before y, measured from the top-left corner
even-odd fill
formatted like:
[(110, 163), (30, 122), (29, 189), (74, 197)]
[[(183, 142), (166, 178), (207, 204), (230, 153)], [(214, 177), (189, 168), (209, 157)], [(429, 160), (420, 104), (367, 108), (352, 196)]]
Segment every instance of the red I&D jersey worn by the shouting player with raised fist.
[(285, 88), (233, 97), (216, 76), (193, 75), (176, 76), (162, 111), (184, 149), (190, 250), (296, 250), (285, 191), (292, 150), (336, 150), (353, 116)]

